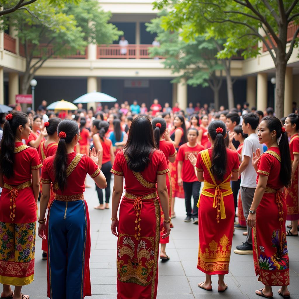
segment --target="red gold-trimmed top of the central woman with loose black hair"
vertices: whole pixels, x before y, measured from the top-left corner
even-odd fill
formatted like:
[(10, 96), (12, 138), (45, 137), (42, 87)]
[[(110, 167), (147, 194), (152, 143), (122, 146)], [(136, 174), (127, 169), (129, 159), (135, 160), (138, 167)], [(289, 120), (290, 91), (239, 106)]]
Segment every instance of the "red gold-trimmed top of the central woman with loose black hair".
[(157, 191), (157, 175), (169, 172), (165, 155), (161, 150), (155, 149), (150, 155), (150, 159), (151, 162), (144, 171), (133, 173), (128, 167), (123, 150), (120, 150), (115, 156), (111, 172), (125, 177), (124, 188), (128, 193), (135, 196), (145, 196)]

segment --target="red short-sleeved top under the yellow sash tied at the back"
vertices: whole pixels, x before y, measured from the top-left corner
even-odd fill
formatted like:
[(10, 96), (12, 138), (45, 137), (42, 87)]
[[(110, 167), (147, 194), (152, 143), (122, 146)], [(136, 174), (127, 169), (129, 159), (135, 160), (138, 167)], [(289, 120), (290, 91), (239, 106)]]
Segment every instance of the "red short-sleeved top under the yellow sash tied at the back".
[[(208, 149), (210, 160), (212, 161), (212, 152), (213, 152), (213, 147), (210, 147)], [(227, 161), (226, 161), (226, 173), (224, 175), (224, 180), (231, 174), (231, 172), (239, 172), (239, 157), (238, 153), (232, 149), (226, 149), (226, 154), (227, 154)], [(199, 172), (203, 171), (204, 179), (205, 181), (213, 184), (213, 180), (210, 177), (210, 174), (208, 172), (207, 167), (205, 167), (204, 162), (202, 161), (202, 156), (199, 154), (197, 155), (197, 161), (196, 161), (196, 170)], [(229, 178), (227, 181), (230, 181), (231, 179)], [(222, 181), (219, 181), (218, 179), (215, 178), (215, 181), (217, 184), (222, 183)], [(208, 189), (208, 192), (212, 192), (213, 190)], [(213, 193), (213, 192), (212, 192)]]

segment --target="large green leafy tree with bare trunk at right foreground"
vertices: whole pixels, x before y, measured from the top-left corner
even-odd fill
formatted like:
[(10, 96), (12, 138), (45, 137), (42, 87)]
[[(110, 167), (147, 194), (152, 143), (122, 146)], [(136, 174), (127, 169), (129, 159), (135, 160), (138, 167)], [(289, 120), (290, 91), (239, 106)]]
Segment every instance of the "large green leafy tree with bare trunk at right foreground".
[[(175, 1), (176, 2), (176, 1)], [(276, 70), (275, 112), (283, 116), (286, 64), (293, 48), (298, 47), (299, 28), (287, 48), (287, 29), (290, 22), (299, 23), (298, 0), (171, 0), (155, 1), (155, 7), (170, 7), (163, 19), (168, 30), (182, 28), (184, 39), (205, 34), (216, 39), (225, 38), (218, 57), (228, 58), (244, 49), (243, 56), (256, 57), (262, 41), (267, 47)], [(186, 26), (188, 22), (190, 25)], [(271, 36), (271, 38), (270, 38)]]

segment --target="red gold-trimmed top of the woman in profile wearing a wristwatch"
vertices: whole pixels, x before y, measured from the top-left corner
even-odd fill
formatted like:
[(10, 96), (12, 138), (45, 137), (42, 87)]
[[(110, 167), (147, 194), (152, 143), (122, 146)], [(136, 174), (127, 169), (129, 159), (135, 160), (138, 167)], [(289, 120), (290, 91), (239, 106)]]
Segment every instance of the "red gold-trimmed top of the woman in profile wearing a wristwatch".
[(269, 147), (266, 152), (264, 152), (257, 164), (257, 182), (259, 180), (259, 175), (263, 174), (268, 176), (267, 187), (273, 189), (280, 189), (283, 184), (280, 181), (280, 168), (281, 168), (281, 157), (279, 147)]

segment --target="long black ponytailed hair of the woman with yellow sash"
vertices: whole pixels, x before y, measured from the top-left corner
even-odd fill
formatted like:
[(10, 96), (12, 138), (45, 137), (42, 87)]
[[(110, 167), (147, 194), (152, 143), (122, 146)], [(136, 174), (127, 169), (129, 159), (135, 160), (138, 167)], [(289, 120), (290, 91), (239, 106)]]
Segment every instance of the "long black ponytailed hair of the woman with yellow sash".
[[(217, 133), (217, 128), (221, 128), (222, 133)], [(224, 136), (226, 134), (225, 123), (222, 120), (213, 120), (208, 126), (208, 132), (214, 141), (211, 173), (216, 177), (216, 179), (223, 181), (227, 164), (227, 152), (224, 140)]]

